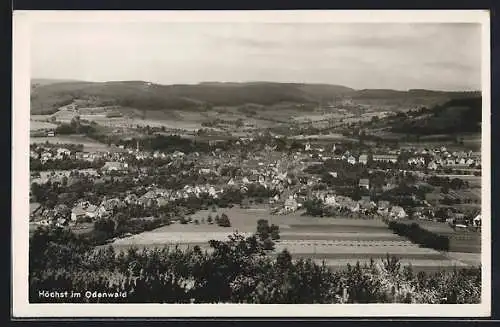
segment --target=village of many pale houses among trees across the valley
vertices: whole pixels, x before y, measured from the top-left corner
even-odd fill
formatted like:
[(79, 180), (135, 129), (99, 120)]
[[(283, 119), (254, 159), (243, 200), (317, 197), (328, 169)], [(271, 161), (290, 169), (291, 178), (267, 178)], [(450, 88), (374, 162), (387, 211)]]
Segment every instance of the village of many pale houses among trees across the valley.
[[(242, 138), (234, 149), (221, 151), (215, 145), (208, 153), (145, 151), (139, 143), (135, 148), (120, 146), (119, 151), (112, 152), (32, 145), (30, 221), (34, 225), (76, 226), (112, 218), (131, 205), (162, 208), (196, 198), (203, 199), (204, 206), (265, 203), (275, 215), (305, 210), (319, 216), (434, 220), (454, 227), (480, 226), (479, 209), (432, 205), (426, 194), (421, 194), (423, 185), (427, 193), (436, 193), (429, 180), (439, 178), (437, 172), (444, 169), (452, 176), (477, 176), (479, 153), (452, 152), (444, 146), (363, 153), (343, 150), (342, 144), (328, 149), (307, 142), (301, 148), (283, 151), (265, 145), (249, 154), (244, 149), (251, 142)], [(75, 192), (72, 186), (82, 184), (82, 179), (89, 187)], [(146, 184), (148, 180), (151, 183)], [(450, 185), (465, 188), (448, 180)], [(94, 186), (121, 182), (127, 184), (123, 192), (117, 191), (121, 187), (110, 187), (109, 194), (92, 196)], [(52, 199), (46, 196), (43, 189), (47, 186), (58, 187), (59, 195)], [(404, 199), (394, 192), (402, 187), (408, 187)], [(72, 196), (65, 197), (65, 193)], [(473, 201), (478, 203), (478, 199)]]

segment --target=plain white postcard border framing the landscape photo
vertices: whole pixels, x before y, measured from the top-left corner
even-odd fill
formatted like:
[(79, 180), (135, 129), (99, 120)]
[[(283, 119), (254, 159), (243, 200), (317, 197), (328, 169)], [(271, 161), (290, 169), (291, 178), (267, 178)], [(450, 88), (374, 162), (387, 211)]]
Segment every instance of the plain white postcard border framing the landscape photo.
[[(481, 304), (30, 304), (28, 301), (30, 31), (81, 21), (482, 24)], [(14, 317), (485, 317), (491, 306), (490, 25), (486, 10), (442, 11), (16, 11), (13, 16), (12, 314)]]

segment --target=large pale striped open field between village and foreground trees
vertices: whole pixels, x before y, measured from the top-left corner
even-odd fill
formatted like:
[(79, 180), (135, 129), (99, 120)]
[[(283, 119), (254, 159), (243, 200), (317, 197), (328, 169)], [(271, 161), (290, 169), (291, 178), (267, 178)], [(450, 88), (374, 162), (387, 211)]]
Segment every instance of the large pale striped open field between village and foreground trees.
[[(210, 214), (226, 213), (231, 221), (231, 227), (224, 228), (209, 225), (206, 219)], [(347, 263), (369, 263), (370, 259), (381, 260), (387, 254), (401, 259), (403, 265), (411, 264), (415, 270), (437, 271), (449, 270), (453, 267), (476, 265), (480, 262), (479, 254), (448, 256), (433, 249), (423, 248), (407, 239), (393, 234), (379, 220), (352, 220), (347, 218), (314, 218), (290, 214), (271, 216), (266, 207), (254, 209), (220, 209), (216, 212), (202, 210), (192, 216), (198, 219), (196, 224), (172, 224), (150, 232), (144, 232), (112, 243), (117, 249), (127, 249), (130, 246), (151, 248), (158, 246), (178, 246), (179, 248), (200, 246), (210, 250), (208, 241), (211, 239), (225, 240), (233, 232), (245, 236), (255, 232), (257, 221), (267, 219), (270, 224), (280, 226), (281, 239), (276, 242), (274, 253), (287, 249), (294, 258), (309, 258), (334, 269), (345, 268)], [(205, 222), (201, 223), (204, 219)], [(426, 222), (427, 223), (427, 222)], [(431, 225), (432, 222), (429, 222)], [(444, 224), (434, 226), (443, 231), (449, 228)], [(451, 229), (450, 229), (451, 230)], [(451, 230), (453, 231), (453, 230)]]

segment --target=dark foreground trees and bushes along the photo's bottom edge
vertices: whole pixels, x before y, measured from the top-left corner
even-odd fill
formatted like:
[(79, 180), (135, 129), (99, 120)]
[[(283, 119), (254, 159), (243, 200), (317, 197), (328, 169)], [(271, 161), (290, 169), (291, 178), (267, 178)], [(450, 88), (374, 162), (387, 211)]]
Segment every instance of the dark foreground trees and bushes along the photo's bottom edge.
[[(479, 303), (479, 268), (414, 273), (388, 256), (333, 271), (288, 251), (267, 255), (256, 236), (210, 241), (210, 251), (113, 247), (42, 229), (30, 239), (29, 299), (101, 303)], [(124, 297), (43, 298), (39, 292), (125, 292)]]

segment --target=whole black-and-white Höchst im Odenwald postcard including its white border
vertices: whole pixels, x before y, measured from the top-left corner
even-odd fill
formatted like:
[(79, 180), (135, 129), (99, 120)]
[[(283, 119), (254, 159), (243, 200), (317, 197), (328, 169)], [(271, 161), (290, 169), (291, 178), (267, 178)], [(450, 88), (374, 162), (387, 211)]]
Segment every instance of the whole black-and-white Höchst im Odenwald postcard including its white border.
[(487, 12), (15, 12), (13, 33), (19, 314), (490, 313)]

